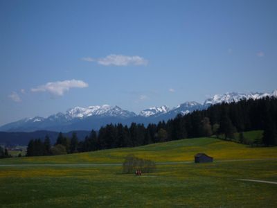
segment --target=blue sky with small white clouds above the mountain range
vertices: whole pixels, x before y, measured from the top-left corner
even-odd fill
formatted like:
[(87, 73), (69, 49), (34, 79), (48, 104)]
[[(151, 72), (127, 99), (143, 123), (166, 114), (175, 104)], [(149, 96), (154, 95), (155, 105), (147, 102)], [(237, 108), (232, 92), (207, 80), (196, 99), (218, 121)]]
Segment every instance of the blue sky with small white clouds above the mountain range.
[(277, 1), (0, 1), (0, 125), (277, 89)]

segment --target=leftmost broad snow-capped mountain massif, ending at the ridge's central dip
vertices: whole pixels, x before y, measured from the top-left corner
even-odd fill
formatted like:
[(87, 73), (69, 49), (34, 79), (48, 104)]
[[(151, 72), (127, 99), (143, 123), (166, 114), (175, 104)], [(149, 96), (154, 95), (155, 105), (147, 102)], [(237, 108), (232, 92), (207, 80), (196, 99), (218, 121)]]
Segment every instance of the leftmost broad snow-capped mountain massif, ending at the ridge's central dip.
[(34, 130), (89, 130), (98, 129), (107, 123), (124, 123), (126, 119), (135, 117), (134, 112), (123, 110), (118, 106), (96, 105), (89, 107), (73, 107), (65, 113), (58, 112), (47, 118), (36, 116), (21, 119), (0, 127), (1, 131), (34, 131)]

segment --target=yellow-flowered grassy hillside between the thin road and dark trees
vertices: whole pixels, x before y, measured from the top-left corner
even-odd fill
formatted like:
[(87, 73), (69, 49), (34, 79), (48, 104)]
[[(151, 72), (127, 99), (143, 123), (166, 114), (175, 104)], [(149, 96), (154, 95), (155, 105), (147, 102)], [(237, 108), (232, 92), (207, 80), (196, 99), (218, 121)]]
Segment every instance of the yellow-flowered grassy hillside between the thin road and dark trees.
[(168, 141), (135, 148), (115, 148), (70, 155), (0, 159), (0, 164), (114, 164), (122, 163), (124, 157), (130, 153), (138, 157), (152, 159), (154, 162), (193, 161), (195, 154), (206, 153), (217, 161), (224, 159), (275, 158), (277, 157), (277, 147), (253, 148), (231, 141), (202, 137)]

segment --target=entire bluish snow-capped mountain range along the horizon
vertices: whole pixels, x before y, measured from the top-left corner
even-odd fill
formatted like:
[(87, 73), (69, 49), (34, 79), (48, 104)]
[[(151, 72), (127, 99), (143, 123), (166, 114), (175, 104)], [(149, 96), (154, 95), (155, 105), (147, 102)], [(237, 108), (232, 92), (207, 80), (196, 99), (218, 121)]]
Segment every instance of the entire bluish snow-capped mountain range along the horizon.
[(260, 99), (266, 96), (277, 97), (277, 89), (272, 93), (226, 93), (216, 94), (211, 98), (207, 98), (204, 103), (195, 101), (185, 102), (177, 107), (163, 105), (161, 107), (150, 107), (142, 110), (139, 114), (123, 110), (118, 106), (96, 105), (89, 107), (73, 107), (65, 113), (58, 112), (48, 116), (47, 118), (35, 116), (34, 118), (21, 119), (0, 127), (3, 132), (32, 132), (36, 130), (50, 130), (56, 132), (70, 132), (73, 130), (98, 130), (101, 126), (108, 123), (123, 123), (129, 125), (132, 122), (157, 123), (159, 121), (167, 121), (177, 114), (188, 114), (194, 110), (204, 110), (210, 105), (217, 103), (238, 102), (242, 99)]

